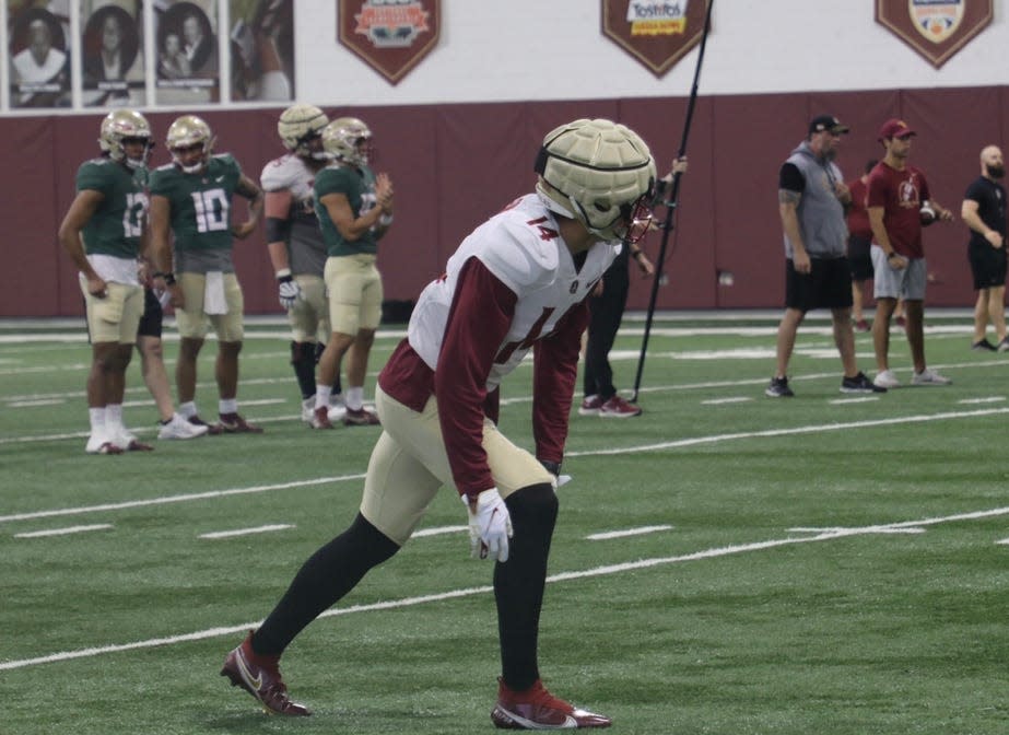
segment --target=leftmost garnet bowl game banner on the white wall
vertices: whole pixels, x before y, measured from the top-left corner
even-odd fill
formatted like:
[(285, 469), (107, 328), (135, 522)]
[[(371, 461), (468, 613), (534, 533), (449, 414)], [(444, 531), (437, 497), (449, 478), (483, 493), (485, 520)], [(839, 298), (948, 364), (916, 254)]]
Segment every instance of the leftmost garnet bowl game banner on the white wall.
[(337, 37), (391, 84), (438, 43), (441, 0), (338, 0)]

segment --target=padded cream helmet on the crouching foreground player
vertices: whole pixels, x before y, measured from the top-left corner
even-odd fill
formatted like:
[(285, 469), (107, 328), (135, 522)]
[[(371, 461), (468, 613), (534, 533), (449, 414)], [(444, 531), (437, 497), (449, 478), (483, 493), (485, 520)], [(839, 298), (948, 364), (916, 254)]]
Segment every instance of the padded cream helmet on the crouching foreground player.
[(637, 242), (648, 231), (655, 159), (630, 128), (584, 118), (562, 125), (547, 133), (535, 167), (550, 210), (594, 235)]

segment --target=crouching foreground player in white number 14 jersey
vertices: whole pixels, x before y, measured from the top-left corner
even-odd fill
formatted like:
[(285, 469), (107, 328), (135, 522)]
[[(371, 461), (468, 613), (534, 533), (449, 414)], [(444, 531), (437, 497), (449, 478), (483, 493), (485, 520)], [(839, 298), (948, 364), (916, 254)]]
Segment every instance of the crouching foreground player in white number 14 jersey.
[[(647, 231), (655, 161), (632, 130), (578, 119), (552, 130), (535, 194), (477, 228), (418, 300), (407, 338), (378, 377), (383, 433), (361, 511), (295, 576), (222, 675), (265, 708), (308, 714), (278, 662), (298, 632), (410, 538), (438, 488), (459, 492), (471, 550), (495, 560), (502, 676), (497, 727), (607, 727), (610, 719), (551, 695), (537, 662), (547, 559), (558, 515), (586, 299), (623, 243)], [(496, 427), (502, 378), (533, 349), (536, 454)]]

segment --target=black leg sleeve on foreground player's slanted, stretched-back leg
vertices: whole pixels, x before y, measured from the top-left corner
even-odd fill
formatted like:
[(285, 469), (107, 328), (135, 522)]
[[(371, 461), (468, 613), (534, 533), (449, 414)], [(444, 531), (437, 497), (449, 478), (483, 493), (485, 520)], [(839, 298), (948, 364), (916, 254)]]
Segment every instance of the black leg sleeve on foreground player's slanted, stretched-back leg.
[(265, 656), (280, 655), (305, 626), (397, 551), (399, 546), (359, 513), (350, 528), (302, 565), (277, 607), (253, 634), (253, 650)]

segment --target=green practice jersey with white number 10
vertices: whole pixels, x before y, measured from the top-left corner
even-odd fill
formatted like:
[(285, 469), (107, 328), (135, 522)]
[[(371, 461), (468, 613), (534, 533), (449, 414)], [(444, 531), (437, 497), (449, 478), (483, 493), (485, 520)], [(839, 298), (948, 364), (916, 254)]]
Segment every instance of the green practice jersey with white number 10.
[(151, 172), (151, 196), (165, 197), (172, 208), (176, 252), (231, 249), (232, 198), (240, 177), (242, 168), (230, 153), (211, 156), (198, 174), (187, 174), (174, 163)]

